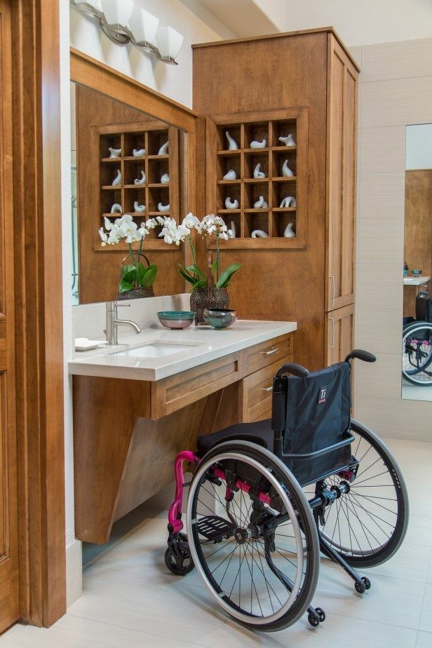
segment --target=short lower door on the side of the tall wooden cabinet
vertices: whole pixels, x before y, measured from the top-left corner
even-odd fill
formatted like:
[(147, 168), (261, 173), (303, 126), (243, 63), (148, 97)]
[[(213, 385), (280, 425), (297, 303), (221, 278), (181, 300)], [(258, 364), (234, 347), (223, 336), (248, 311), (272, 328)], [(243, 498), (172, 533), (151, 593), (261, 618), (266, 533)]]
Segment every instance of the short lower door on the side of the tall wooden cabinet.
[(354, 304), (325, 314), (325, 365), (342, 362), (353, 349)]

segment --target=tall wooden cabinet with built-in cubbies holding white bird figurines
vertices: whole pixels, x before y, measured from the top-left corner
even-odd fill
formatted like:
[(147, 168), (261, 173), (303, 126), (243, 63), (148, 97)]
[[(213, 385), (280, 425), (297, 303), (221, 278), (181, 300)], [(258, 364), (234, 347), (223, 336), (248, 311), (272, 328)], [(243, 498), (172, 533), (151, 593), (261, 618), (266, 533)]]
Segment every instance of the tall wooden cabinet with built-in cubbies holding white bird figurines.
[(313, 370), (352, 346), (358, 72), (331, 28), (194, 46), (197, 212), (234, 224), (222, 261), (243, 264), (239, 316), (297, 320), (296, 360)]

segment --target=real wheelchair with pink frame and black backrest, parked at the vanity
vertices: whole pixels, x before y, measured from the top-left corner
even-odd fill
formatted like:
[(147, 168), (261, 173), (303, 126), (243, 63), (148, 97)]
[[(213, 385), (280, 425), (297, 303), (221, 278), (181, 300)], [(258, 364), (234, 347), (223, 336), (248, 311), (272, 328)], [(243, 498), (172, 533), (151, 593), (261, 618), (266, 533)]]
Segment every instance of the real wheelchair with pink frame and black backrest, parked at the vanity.
[[(281, 630), (304, 612), (318, 626), (320, 553), (363, 594), (371, 583), (358, 570), (381, 565), (403, 542), (405, 482), (382, 440), (351, 419), (352, 358), (376, 360), (356, 349), (311, 374), (283, 365), (271, 419), (198, 437), (196, 452), (175, 459), (166, 566), (179, 576), (196, 567), (215, 602), (249, 628)], [(184, 462), (194, 466), (189, 484)]]

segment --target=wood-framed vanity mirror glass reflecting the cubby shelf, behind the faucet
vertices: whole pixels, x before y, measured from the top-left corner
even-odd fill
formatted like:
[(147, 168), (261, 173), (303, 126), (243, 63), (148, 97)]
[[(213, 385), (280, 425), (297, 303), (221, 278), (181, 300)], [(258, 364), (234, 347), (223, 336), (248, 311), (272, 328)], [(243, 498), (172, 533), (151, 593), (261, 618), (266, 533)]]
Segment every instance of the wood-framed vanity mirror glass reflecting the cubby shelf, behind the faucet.
[[(74, 82), (71, 123), (73, 303), (127, 299), (132, 292), (119, 294), (119, 283), (131, 266), (128, 245), (124, 239), (102, 245), (99, 230), (123, 215), (139, 229), (149, 218), (169, 215), (178, 222), (187, 213), (187, 133)], [(184, 248), (164, 243), (160, 231), (149, 230), (140, 257), (144, 270), (156, 264), (156, 279), (134, 297), (184, 292), (177, 273)]]

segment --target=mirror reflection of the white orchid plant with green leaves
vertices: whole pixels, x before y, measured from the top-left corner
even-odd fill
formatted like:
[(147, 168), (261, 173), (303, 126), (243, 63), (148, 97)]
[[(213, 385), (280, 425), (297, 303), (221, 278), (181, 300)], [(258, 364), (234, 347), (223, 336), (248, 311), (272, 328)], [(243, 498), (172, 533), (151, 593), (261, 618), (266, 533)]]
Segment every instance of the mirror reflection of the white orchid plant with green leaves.
[[(122, 267), (119, 292), (128, 292), (133, 288), (149, 288), (153, 285), (156, 279), (157, 266), (151, 264), (145, 267), (141, 263), (142, 245), (144, 238), (150, 234), (150, 230), (164, 222), (165, 219), (162, 217), (158, 217), (157, 220), (149, 218), (146, 222), (141, 223), (141, 227), (138, 227), (133, 217), (128, 214), (117, 218), (114, 223), (105, 217), (104, 227), (99, 230), (102, 247), (105, 245), (117, 245), (124, 238), (129, 248), (128, 256), (131, 263), (124, 264)], [(139, 244), (137, 251), (133, 250), (133, 243)]]

